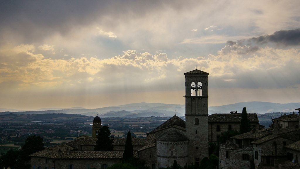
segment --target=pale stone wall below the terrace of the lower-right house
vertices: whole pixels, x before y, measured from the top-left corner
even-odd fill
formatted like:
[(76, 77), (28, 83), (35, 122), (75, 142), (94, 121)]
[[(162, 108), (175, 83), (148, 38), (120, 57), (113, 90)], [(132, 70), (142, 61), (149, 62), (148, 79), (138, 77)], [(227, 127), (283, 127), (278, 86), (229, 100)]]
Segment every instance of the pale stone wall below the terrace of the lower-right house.
[[(244, 168), (250, 169), (250, 161), (253, 159), (252, 146), (243, 146), (235, 148), (234, 145), (220, 144), (219, 154), (219, 168), (220, 169), (236, 169)], [(226, 151), (228, 151), (228, 158), (226, 158)], [(249, 160), (243, 160), (243, 154), (249, 155)]]

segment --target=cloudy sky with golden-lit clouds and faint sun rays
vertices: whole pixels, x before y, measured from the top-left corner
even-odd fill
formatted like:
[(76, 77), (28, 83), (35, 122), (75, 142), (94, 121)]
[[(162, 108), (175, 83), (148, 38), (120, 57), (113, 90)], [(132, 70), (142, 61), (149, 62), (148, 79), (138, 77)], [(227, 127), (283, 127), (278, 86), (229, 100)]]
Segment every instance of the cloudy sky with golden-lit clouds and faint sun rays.
[(1, 1), (0, 107), (300, 102), (300, 1)]

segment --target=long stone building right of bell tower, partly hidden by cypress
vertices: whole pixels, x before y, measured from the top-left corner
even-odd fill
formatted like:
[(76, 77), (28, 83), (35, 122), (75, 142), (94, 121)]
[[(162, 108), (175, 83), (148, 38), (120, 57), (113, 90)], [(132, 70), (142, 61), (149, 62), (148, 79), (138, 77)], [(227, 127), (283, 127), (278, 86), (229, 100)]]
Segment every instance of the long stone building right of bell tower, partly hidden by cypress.
[[(256, 130), (264, 128), (259, 125), (256, 113), (247, 113), (250, 125)], [(221, 133), (229, 130), (239, 131), (241, 126), (241, 113), (217, 113), (208, 116), (208, 141), (217, 142)]]

